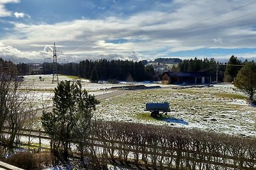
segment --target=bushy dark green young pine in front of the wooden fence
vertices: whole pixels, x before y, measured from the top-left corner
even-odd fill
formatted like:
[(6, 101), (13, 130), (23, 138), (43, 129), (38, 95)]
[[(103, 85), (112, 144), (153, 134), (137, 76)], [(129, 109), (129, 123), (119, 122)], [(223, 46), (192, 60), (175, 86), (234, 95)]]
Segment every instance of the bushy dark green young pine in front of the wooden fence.
[(51, 136), (51, 152), (54, 155), (67, 160), (73, 137), (77, 136), (76, 132), (90, 127), (92, 111), (98, 103), (94, 96), (82, 90), (79, 81), (61, 81), (58, 84), (54, 89), (52, 113), (42, 115), (42, 126)]

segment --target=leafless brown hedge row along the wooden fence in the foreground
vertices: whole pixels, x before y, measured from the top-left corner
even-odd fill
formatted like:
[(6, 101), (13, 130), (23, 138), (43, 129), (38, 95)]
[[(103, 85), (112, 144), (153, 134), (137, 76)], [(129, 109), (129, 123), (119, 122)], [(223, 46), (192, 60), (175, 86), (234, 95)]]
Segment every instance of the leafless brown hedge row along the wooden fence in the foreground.
[(95, 122), (92, 131), (88, 152), (101, 159), (154, 169), (256, 169), (255, 138), (128, 122)]

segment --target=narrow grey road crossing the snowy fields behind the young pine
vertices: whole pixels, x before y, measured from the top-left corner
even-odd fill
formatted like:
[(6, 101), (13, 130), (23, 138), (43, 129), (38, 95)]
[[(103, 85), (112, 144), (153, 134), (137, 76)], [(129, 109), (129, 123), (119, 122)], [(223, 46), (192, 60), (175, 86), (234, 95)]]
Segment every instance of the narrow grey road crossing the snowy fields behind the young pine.
[[(129, 90), (118, 90), (118, 91), (115, 91), (115, 92), (111, 92), (111, 93), (107, 93), (107, 94), (102, 94), (100, 96), (95, 96), (95, 98), (98, 101), (102, 101), (104, 99), (108, 99), (108, 98), (111, 98), (111, 97), (114, 97), (114, 96), (118, 96), (120, 94), (125, 94), (127, 92), (129, 92)], [(46, 108), (46, 112), (52, 112), (52, 108), (53, 108), (52, 106)], [(42, 109), (36, 110), (36, 117), (42, 116), (42, 112), (43, 112)]]

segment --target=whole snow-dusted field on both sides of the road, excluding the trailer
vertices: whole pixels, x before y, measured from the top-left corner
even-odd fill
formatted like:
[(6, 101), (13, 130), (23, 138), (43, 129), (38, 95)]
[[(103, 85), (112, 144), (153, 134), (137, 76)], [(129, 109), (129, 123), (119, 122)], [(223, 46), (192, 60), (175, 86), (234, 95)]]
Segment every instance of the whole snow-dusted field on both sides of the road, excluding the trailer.
[[(51, 101), (54, 87), (52, 75), (26, 76), (25, 82), (33, 89), (35, 107), (40, 108), (42, 101)], [(59, 80), (72, 80), (59, 76)], [(76, 80), (75, 80), (76, 81)], [(106, 90), (123, 84), (90, 83), (81, 80), (83, 88), (89, 94), (99, 96), (113, 92)], [(142, 122), (175, 127), (196, 128), (205, 131), (221, 132), (241, 136), (256, 137), (256, 108), (247, 102), (247, 97), (237, 91), (233, 85), (213, 85), (211, 87), (177, 89), (175, 85), (160, 85), (161, 89), (127, 91), (120, 96), (100, 101), (94, 117), (104, 120)], [(145, 103), (168, 102), (171, 112), (164, 118), (154, 119), (145, 110)], [(50, 103), (51, 104), (51, 103)]]

